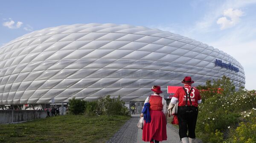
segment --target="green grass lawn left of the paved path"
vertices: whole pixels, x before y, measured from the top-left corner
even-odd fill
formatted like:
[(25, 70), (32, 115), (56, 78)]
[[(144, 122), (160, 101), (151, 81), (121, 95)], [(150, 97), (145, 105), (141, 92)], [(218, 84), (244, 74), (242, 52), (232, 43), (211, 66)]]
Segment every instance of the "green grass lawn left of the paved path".
[(0, 143), (105, 143), (130, 117), (65, 115), (0, 125)]

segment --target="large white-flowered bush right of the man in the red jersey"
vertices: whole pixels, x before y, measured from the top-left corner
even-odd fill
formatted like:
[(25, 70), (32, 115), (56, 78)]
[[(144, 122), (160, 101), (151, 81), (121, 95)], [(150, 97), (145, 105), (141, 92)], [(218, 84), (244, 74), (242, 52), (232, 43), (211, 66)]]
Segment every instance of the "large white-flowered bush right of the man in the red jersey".
[[(253, 118), (241, 114), (255, 107), (255, 90), (241, 88), (236, 92), (232, 81), (225, 76), (213, 82), (207, 81), (206, 86), (198, 86), (198, 89), (201, 90), (203, 102), (198, 106), (196, 132), (204, 143), (256, 142), (256, 133), (250, 130), (255, 125)], [(246, 128), (250, 128), (246, 132), (250, 135), (240, 132), (245, 132)]]

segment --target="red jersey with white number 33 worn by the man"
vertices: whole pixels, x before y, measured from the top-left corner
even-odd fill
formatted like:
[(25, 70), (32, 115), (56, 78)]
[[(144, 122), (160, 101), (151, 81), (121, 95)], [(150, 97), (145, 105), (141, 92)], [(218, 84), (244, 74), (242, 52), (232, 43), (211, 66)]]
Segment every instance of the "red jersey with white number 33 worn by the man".
[[(191, 86), (185, 85), (184, 87), (185, 87), (187, 93), (189, 93)], [(178, 106), (186, 105), (186, 93), (182, 87), (177, 89), (177, 91), (173, 97), (178, 98), (178, 100), (179, 100)], [(200, 95), (198, 89), (196, 89), (196, 88), (192, 89), (192, 92), (190, 93), (190, 98), (191, 98), (192, 106), (198, 107), (198, 100), (201, 100), (201, 95)], [(188, 97), (187, 105), (190, 105), (189, 97)]]

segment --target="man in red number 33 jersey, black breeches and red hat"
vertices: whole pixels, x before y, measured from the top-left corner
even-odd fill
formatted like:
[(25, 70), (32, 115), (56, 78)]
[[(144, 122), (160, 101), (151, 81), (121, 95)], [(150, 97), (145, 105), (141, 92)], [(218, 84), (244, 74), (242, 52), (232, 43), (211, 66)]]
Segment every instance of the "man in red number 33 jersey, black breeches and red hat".
[[(181, 82), (184, 84), (184, 87), (177, 89), (175, 95), (172, 97), (171, 104), (176, 104), (177, 101), (179, 102), (177, 118), (182, 143), (193, 143), (195, 140), (198, 104), (200, 104), (202, 100), (199, 91), (191, 87), (194, 81), (192, 81), (190, 76), (186, 76)], [(187, 131), (189, 131), (188, 135)]]

